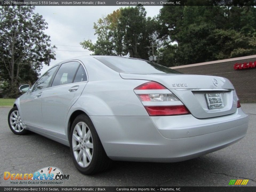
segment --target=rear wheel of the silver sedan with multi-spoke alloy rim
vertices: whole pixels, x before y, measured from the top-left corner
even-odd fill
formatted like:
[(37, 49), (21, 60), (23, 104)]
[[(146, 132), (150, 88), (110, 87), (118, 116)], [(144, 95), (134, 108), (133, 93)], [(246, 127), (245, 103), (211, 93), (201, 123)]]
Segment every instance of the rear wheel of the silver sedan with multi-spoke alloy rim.
[(86, 175), (108, 169), (111, 159), (107, 157), (91, 119), (78, 115), (69, 135), (70, 152), (77, 169)]

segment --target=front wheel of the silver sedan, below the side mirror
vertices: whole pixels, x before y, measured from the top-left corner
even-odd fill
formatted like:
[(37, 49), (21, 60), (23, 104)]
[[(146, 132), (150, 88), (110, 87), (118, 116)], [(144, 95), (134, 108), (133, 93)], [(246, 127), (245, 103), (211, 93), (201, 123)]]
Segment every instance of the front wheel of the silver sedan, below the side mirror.
[(21, 121), (18, 107), (13, 107), (8, 114), (8, 124), (11, 131), (16, 135), (25, 135), (28, 133), (26, 126)]

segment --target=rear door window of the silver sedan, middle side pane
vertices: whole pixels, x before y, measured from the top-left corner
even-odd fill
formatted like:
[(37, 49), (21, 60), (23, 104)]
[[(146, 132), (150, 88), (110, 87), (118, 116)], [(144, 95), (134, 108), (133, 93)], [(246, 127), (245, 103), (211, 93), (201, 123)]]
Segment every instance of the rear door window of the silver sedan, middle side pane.
[(77, 61), (62, 63), (54, 77), (52, 87), (72, 83), (79, 64), (80, 63)]

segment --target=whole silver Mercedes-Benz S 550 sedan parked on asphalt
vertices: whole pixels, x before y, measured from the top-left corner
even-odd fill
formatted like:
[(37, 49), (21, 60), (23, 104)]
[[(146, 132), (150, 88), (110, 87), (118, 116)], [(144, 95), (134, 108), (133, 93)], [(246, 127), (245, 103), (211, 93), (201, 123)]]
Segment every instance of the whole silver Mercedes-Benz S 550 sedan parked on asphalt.
[(177, 162), (227, 147), (247, 132), (231, 82), (181, 74), (129, 57), (83, 56), (59, 63), (11, 109), (11, 131), (70, 146), (79, 171), (112, 160)]

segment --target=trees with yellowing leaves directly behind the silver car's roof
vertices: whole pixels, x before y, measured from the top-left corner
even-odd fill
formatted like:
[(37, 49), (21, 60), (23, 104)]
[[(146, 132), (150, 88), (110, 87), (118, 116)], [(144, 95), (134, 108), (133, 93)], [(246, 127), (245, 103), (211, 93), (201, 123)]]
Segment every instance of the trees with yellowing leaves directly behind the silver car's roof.
[(148, 59), (152, 43), (157, 41), (158, 21), (146, 17), (143, 6), (120, 8), (94, 23), (96, 43), (86, 40), (80, 44), (93, 55), (127, 55)]

